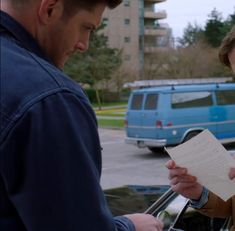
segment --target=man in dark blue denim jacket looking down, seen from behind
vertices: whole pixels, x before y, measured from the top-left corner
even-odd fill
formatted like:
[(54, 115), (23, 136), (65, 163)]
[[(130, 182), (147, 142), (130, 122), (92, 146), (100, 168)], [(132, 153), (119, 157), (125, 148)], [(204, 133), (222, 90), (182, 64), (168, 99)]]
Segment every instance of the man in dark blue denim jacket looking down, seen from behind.
[(95, 114), (61, 71), (119, 3), (1, 0), (1, 231), (162, 230), (151, 215), (110, 214)]

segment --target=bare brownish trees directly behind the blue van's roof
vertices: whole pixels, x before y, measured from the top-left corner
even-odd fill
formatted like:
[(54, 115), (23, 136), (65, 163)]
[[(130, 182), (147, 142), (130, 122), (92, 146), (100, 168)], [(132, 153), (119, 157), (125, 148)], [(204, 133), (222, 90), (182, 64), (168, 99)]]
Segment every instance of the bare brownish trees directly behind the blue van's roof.
[(218, 59), (218, 49), (202, 41), (187, 47), (169, 49), (152, 56), (149, 61), (151, 79), (203, 78), (231, 75)]

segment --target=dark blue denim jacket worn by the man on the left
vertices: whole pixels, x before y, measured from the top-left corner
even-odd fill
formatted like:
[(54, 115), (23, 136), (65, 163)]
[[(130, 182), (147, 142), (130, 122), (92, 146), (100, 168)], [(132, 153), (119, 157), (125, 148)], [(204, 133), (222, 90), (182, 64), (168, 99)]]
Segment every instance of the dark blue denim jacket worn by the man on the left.
[(0, 231), (133, 231), (106, 206), (83, 90), (19, 23), (0, 16)]

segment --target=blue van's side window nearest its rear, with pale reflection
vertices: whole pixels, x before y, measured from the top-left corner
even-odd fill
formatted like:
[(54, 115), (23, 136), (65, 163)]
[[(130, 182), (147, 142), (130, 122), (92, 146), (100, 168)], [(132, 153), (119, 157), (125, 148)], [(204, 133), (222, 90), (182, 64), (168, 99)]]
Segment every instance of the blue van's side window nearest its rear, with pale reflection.
[(173, 93), (172, 108), (207, 107), (213, 104), (211, 92), (184, 92)]

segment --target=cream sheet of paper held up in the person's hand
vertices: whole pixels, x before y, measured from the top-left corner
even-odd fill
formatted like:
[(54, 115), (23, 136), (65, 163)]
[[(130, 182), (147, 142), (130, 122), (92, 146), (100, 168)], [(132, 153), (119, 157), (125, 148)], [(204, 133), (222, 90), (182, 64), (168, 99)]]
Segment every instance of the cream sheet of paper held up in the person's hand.
[(235, 181), (228, 177), (230, 168), (235, 167), (235, 159), (210, 131), (204, 130), (166, 151), (178, 166), (187, 168), (200, 184), (224, 201), (235, 195)]

